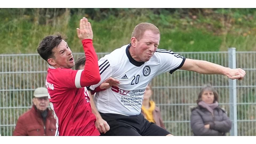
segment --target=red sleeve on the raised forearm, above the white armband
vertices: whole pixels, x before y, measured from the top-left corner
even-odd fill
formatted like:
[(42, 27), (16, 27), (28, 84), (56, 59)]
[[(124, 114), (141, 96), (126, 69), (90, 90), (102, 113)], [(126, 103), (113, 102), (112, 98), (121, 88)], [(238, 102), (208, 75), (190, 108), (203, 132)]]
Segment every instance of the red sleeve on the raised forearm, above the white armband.
[(80, 84), (82, 87), (91, 86), (101, 80), (99, 74), (98, 57), (93, 47), (92, 39), (82, 40), (83, 50), (85, 51), (85, 69), (81, 73)]

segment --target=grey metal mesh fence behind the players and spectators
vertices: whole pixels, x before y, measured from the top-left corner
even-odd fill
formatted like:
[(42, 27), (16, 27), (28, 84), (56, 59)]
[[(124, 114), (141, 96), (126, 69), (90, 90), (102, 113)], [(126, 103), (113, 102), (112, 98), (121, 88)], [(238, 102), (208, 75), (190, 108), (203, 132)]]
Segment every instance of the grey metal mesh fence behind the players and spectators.
[[(107, 53), (98, 53), (98, 58)], [(206, 60), (229, 66), (228, 52), (182, 52), (186, 58)], [(83, 53), (73, 53), (77, 59)], [(246, 71), (237, 81), (237, 134), (256, 135), (256, 52), (236, 52), (236, 65)], [(32, 105), (33, 91), (45, 86), (48, 64), (38, 54), (0, 55), (0, 134), (12, 135), (18, 117)], [(230, 111), (230, 84), (223, 75), (203, 75), (177, 70), (161, 74), (151, 81), (152, 99), (159, 106), (168, 131), (174, 135), (193, 135), (191, 108), (198, 93), (210, 83), (219, 93), (220, 106)], [(234, 120), (233, 120), (234, 121)], [(228, 134), (229, 135), (229, 134)]]

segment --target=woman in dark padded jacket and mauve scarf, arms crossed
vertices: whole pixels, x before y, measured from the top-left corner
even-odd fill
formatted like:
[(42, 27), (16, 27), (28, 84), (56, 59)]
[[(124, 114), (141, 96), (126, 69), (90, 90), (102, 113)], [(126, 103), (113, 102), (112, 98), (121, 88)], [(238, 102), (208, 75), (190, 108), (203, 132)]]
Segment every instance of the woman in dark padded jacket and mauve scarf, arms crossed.
[(218, 93), (211, 85), (201, 89), (197, 105), (190, 117), (194, 135), (222, 136), (230, 131), (232, 122), (226, 111), (218, 106)]

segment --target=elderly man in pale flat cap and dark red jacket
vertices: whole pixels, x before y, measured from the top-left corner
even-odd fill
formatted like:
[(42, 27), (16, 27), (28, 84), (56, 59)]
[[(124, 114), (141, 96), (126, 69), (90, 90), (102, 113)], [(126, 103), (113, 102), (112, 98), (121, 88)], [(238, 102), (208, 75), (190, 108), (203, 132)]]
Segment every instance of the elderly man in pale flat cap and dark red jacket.
[(48, 92), (45, 87), (39, 87), (34, 91), (34, 105), (26, 113), (22, 114), (13, 132), (14, 136), (53, 136), (55, 135), (55, 119), (49, 106)]

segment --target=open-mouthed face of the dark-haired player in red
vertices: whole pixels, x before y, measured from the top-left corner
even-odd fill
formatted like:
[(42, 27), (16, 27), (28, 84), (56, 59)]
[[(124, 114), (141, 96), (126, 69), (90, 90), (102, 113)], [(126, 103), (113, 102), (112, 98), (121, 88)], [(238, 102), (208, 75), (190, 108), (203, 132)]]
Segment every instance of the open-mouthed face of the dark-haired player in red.
[(71, 69), (75, 65), (72, 51), (64, 40), (52, 51), (54, 53), (53, 59), (56, 67)]

